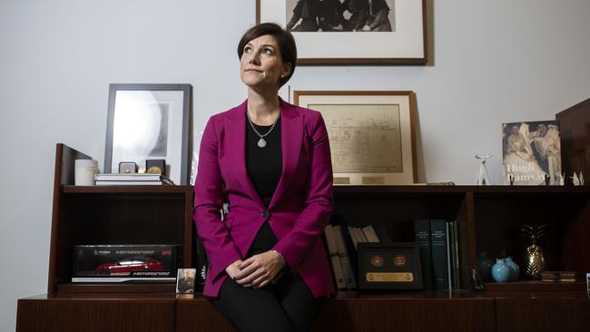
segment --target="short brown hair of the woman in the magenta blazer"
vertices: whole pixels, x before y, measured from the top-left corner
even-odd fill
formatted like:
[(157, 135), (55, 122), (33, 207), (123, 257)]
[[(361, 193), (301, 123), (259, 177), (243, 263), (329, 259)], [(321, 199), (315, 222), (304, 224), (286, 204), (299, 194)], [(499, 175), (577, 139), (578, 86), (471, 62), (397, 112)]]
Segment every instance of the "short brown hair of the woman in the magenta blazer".
[(246, 44), (262, 35), (272, 36), (279, 45), (280, 60), (282, 60), (283, 63), (291, 63), (289, 75), (281, 78), (279, 81), (279, 86), (282, 86), (290, 80), (290, 77), (295, 72), (295, 66), (297, 65), (297, 45), (295, 44), (295, 38), (293, 38), (293, 35), (290, 34), (289, 31), (280, 27), (279, 24), (261, 23), (248, 29), (248, 31), (241, 36), (240, 44), (238, 44), (238, 58), (241, 59), (241, 54), (244, 53), (244, 46), (246, 46)]

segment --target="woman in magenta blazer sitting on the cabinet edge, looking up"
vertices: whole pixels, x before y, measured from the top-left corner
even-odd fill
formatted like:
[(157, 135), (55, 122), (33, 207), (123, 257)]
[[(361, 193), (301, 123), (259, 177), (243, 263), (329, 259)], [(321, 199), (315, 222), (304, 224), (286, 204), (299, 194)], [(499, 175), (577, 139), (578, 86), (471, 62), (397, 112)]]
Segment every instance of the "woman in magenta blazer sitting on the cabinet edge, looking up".
[(279, 98), (297, 62), (289, 32), (256, 25), (238, 56), (248, 99), (207, 122), (194, 187), (203, 294), (241, 330), (307, 330), (333, 292), (320, 240), (333, 205), (328, 133), (320, 112)]

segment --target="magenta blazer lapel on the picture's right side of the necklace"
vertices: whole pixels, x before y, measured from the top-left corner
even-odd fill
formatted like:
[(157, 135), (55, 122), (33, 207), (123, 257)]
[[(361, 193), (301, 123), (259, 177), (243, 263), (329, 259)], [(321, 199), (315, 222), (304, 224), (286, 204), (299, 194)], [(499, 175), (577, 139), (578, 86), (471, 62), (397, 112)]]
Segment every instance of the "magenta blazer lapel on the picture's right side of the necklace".
[(270, 200), (269, 210), (277, 204), (285, 190), (289, 189), (289, 183), (297, 170), (303, 141), (303, 117), (297, 112), (295, 106), (285, 103), (282, 99), (280, 99), (280, 108), (282, 112), (280, 120), (282, 173), (277, 190), (274, 191)]

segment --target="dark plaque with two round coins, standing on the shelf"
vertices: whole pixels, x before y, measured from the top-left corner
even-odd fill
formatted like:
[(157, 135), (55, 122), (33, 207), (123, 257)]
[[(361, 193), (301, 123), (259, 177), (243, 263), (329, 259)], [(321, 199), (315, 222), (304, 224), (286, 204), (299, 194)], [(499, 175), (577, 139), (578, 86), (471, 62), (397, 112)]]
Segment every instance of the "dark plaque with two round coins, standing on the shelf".
[(359, 243), (360, 289), (422, 289), (414, 242)]

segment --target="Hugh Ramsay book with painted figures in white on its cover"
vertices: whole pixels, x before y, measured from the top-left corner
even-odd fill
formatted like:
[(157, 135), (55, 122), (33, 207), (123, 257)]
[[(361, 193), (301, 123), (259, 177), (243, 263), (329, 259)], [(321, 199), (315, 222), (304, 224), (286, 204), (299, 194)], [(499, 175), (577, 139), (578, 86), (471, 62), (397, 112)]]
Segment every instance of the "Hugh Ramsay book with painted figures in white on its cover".
[(502, 141), (504, 184), (564, 184), (558, 122), (503, 123)]

